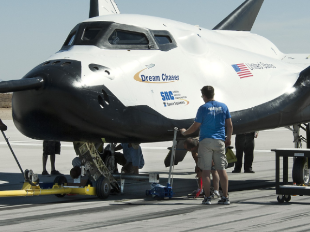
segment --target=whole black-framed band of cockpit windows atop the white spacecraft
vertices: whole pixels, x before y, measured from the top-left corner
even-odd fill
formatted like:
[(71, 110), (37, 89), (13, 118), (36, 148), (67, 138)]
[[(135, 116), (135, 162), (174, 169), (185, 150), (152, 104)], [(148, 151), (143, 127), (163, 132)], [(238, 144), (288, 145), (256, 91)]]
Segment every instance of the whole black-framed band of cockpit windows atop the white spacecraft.
[(108, 21), (83, 22), (75, 26), (61, 51), (72, 46), (96, 46), (100, 49), (169, 51), (177, 44), (166, 30), (150, 30)]

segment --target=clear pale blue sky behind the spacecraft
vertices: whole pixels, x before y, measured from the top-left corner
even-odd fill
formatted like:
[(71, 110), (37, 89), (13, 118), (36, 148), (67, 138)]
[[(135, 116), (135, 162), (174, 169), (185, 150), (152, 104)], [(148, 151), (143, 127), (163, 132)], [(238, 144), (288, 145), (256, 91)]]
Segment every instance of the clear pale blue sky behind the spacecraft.
[[(212, 29), (244, 0), (115, 0), (123, 14)], [(252, 33), (283, 53), (310, 53), (310, 0), (264, 0)], [(57, 52), (88, 18), (89, 0), (0, 0), (0, 79), (20, 79)]]

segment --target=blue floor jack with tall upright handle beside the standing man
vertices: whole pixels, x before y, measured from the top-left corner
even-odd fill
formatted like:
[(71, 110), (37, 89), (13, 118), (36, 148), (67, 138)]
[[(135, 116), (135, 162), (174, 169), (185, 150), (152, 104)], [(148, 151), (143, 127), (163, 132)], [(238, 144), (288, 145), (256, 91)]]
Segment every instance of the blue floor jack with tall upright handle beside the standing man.
[(170, 167), (169, 167), (169, 176), (168, 176), (168, 183), (167, 186), (163, 186), (160, 184), (153, 183), (151, 186), (153, 187), (150, 190), (146, 190), (145, 194), (152, 195), (154, 198), (158, 196), (160, 198), (171, 198), (174, 194), (172, 191), (172, 184), (173, 184), (173, 168), (174, 168), (174, 157), (175, 157), (175, 149), (176, 149), (176, 134), (178, 128), (174, 128), (174, 137), (173, 137), (173, 145), (172, 145), (172, 152), (171, 152), (171, 160), (170, 160)]

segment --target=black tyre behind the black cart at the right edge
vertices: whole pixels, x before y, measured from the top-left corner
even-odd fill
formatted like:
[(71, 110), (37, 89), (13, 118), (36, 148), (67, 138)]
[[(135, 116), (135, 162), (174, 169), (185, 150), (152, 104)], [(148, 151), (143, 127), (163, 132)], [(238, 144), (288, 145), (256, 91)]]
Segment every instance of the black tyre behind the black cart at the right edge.
[(297, 157), (293, 164), (293, 182), (296, 184), (308, 185), (310, 182), (310, 172), (306, 158)]

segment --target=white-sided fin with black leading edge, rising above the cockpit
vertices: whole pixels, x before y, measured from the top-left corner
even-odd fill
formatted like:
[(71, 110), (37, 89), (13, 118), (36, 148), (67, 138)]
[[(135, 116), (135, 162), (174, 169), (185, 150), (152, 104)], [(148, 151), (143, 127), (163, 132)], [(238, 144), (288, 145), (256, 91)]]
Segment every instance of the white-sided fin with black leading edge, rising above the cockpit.
[(121, 14), (114, 0), (90, 0), (89, 18), (106, 14)]

